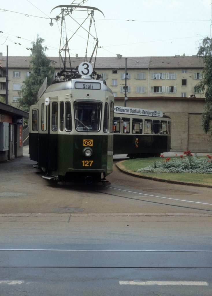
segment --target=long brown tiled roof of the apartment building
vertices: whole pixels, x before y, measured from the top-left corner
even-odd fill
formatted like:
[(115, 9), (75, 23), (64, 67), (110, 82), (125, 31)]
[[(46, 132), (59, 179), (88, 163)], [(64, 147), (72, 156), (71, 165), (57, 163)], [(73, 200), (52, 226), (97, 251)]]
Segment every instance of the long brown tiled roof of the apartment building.
[[(167, 68), (203, 68), (203, 58), (197, 56), (174, 56), (174, 57), (97, 57), (95, 69), (124, 69), (125, 58), (127, 58), (127, 68), (135, 69), (167, 69)], [(8, 66), (10, 68), (30, 68), (32, 57), (8, 57)], [(59, 57), (48, 57), (52, 62), (55, 62), (56, 69), (63, 67)], [(89, 60), (89, 58), (88, 58)], [(72, 68), (84, 62), (84, 57), (71, 57)], [(1, 67), (6, 67), (6, 57), (0, 60)], [(94, 65), (94, 58), (91, 61)], [(67, 62), (69, 68), (69, 61)]]

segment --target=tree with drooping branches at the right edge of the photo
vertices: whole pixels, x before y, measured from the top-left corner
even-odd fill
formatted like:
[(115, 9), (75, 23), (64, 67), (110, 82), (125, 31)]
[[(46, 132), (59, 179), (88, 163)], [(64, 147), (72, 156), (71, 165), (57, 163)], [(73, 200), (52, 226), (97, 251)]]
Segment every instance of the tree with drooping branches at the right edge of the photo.
[(195, 92), (205, 92), (205, 109), (202, 115), (202, 125), (205, 133), (212, 135), (212, 38), (203, 39), (199, 47), (198, 57), (203, 57), (205, 67), (202, 70), (202, 79), (195, 86)]

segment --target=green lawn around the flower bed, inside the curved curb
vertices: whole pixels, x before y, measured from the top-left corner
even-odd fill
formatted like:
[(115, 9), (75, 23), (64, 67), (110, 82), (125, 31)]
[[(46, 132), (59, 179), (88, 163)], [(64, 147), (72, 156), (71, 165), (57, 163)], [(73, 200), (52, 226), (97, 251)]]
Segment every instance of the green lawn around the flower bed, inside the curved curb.
[[(171, 157), (176, 158), (176, 157)], [(136, 158), (122, 161), (122, 166), (129, 171), (136, 172), (139, 168), (145, 168), (152, 165), (154, 161), (161, 161), (161, 157), (151, 158)], [(212, 186), (212, 174), (197, 174), (197, 173), (144, 173), (136, 172), (141, 176), (148, 176), (151, 178), (160, 178), (166, 180), (189, 182), (195, 184), (206, 184)]]

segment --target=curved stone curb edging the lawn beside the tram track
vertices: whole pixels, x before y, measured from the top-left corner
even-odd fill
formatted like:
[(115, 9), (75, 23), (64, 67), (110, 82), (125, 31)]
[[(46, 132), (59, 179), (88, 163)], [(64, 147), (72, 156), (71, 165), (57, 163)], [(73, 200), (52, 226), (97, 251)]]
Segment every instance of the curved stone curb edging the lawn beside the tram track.
[(119, 161), (116, 163), (116, 167), (122, 172), (127, 175), (133, 176), (133, 177), (138, 177), (138, 178), (143, 178), (143, 179), (148, 179), (148, 180), (153, 180), (153, 181), (159, 181), (159, 182), (165, 182), (165, 183), (171, 183), (171, 184), (180, 184), (180, 185), (189, 185), (189, 186), (198, 186), (198, 187), (208, 187), (212, 188), (212, 185), (208, 184), (199, 184), (199, 183), (191, 183), (191, 182), (183, 182), (183, 181), (174, 181), (174, 180), (167, 180), (167, 179), (162, 179), (162, 178), (157, 178), (157, 177), (149, 177), (149, 176), (144, 176), (141, 175), (140, 173), (132, 172), (130, 170), (127, 170), (124, 165), (122, 164), (126, 160)]

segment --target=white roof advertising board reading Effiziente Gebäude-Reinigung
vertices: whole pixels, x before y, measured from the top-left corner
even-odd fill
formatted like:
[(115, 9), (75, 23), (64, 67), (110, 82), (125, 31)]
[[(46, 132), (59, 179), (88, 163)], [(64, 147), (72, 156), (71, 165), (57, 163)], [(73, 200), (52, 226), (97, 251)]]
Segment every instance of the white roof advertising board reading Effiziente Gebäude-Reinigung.
[(158, 110), (147, 110), (120, 106), (114, 106), (114, 113), (163, 117), (163, 112)]

